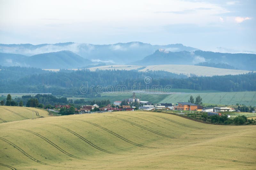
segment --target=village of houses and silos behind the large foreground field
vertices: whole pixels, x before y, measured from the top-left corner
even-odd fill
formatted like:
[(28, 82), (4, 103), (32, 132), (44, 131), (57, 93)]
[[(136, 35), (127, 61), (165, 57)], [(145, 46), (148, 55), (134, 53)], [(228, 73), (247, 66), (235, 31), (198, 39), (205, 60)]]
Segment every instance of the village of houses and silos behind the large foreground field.
[[(134, 103), (137, 103), (137, 106), (134, 106)], [(60, 109), (62, 107), (66, 107), (69, 109), (70, 105), (55, 105), (56, 109)], [(113, 104), (108, 104), (105, 107), (99, 107), (97, 104), (94, 105), (86, 105), (80, 106), (80, 108), (75, 108), (75, 114), (90, 114), (90, 113), (103, 113), (103, 112), (114, 112), (114, 111), (134, 111), (134, 110), (172, 110), (179, 111), (183, 113), (185, 111), (190, 111), (194, 113), (197, 112), (206, 112), (208, 116), (211, 115), (219, 115), (219, 112), (233, 112), (236, 111), (235, 108), (232, 107), (202, 107), (200, 105), (191, 103), (191, 102), (177, 102), (177, 103), (158, 103), (153, 104), (150, 101), (141, 101), (138, 99), (133, 92), (133, 95), (129, 99), (124, 99), (122, 101), (114, 101)], [(237, 110), (239, 112), (239, 110)], [(230, 117), (230, 115), (227, 115)]]

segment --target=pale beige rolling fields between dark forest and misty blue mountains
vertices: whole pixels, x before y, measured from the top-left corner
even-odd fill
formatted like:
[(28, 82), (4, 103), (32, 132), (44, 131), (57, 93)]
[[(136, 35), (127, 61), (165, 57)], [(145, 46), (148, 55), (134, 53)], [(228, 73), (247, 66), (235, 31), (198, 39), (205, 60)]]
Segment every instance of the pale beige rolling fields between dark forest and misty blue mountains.
[(215, 67), (195, 66), (195, 65), (150, 65), (150, 66), (138, 66), (138, 65), (107, 65), (100, 67), (89, 68), (91, 71), (95, 70), (139, 70), (139, 71), (168, 71), (176, 74), (184, 74), (188, 77), (191, 75), (196, 76), (222, 76), (222, 75), (237, 75), (251, 72), (249, 70), (231, 70), (231, 69), (220, 69)]

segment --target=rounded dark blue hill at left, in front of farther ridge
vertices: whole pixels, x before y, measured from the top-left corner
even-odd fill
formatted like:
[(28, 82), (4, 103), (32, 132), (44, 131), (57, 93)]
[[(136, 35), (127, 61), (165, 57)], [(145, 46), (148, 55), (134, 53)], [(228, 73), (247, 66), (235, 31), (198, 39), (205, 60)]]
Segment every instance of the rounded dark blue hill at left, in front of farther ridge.
[(3, 66), (26, 66), (42, 69), (72, 69), (91, 64), (88, 59), (71, 51), (59, 51), (32, 56), (0, 53)]

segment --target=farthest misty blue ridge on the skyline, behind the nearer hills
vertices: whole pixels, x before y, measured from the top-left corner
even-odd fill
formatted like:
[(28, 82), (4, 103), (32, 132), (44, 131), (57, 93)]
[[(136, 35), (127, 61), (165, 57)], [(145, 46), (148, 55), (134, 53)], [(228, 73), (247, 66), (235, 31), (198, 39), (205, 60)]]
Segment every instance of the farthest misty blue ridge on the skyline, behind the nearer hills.
[(116, 43), (108, 45), (94, 45), (87, 43), (57, 43), (57, 44), (0, 44), (0, 52), (22, 55), (36, 55), (61, 50), (72, 51), (96, 63), (126, 64), (141, 60), (163, 48), (168, 51), (195, 51), (197, 48), (183, 46), (182, 44), (151, 45), (142, 42)]

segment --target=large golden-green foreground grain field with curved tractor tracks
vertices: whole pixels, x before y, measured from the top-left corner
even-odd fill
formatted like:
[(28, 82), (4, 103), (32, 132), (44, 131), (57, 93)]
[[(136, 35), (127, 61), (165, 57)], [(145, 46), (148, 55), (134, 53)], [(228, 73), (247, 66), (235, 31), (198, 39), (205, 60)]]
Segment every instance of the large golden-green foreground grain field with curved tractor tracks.
[(152, 112), (8, 122), (0, 124), (0, 166), (255, 169), (255, 133), (255, 126), (209, 125)]

